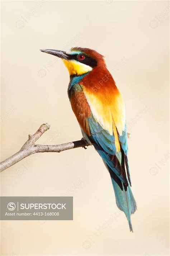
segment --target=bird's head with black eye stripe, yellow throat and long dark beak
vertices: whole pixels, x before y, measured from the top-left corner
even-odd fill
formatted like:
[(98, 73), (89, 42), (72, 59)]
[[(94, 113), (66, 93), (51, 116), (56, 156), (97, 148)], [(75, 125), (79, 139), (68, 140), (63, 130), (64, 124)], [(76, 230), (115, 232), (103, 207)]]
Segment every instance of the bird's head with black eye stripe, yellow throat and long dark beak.
[(69, 51), (42, 49), (41, 51), (61, 58), (70, 76), (83, 75), (101, 65), (105, 67), (103, 55), (88, 48), (74, 47)]

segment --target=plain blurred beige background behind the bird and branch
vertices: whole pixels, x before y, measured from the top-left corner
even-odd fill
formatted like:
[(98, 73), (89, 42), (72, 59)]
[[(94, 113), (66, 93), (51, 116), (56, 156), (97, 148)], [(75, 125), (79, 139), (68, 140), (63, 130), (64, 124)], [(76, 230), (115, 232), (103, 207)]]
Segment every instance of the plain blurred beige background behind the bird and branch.
[(81, 138), (67, 98), (69, 74), (60, 59), (39, 49), (95, 49), (105, 55), (126, 104), (138, 210), (130, 233), (123, 213), (113, 217), (111, 180), (92, 147), (37, 154), (1, 173), (1, 195), (73, 196), (74, 221), (1, 221), (1, 254), (168, 255), (169, 3), (37, 3), (1, 2), (1, 159), (44, 122), (51, 128), (38, 143)]

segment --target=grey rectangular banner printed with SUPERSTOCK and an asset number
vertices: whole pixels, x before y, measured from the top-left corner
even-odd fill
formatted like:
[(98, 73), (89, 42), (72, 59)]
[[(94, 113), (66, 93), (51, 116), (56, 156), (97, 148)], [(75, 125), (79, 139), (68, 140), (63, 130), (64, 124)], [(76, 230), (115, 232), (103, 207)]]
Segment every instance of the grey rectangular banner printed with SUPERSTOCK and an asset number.
[(0, 197), (0, 220), (73, 220), (73, 197)]

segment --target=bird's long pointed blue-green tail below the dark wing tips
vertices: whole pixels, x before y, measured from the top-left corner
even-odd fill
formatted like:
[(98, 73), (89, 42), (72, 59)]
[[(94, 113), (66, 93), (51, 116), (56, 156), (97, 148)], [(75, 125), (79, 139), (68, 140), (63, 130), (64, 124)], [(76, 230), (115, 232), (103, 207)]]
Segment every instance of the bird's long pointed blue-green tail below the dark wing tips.
[(122, 181), (119, 180), (117, 175), (108, 167), (109, 173), (112, 179), (112, 184), (114, 188), (116, 204), (118, 208), (123, 211), (127, 217), (130, 231), (133, 232), (131, 214), (137, 210), (136, 201), (133, 197), (130, 185), (124, 186)]

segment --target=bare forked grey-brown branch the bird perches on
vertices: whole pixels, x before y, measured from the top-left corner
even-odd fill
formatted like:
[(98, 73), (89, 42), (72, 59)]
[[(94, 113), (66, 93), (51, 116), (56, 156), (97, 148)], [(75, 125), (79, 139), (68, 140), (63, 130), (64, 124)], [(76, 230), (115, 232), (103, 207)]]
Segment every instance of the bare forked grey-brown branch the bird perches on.
[[(4, 171), (5, 169), (9, 168), (15, 163), (18, 163), (25, 157), (28, 157), (34, 153), (42, 153), (42, 152), (57, 152), (60, 153), (62, 151), (72, 149), (72, 148), (85, 148), (88, 143), (81, 139), (75, 142), (68, 142), (60, 145), (38, 145), (35, 142), (42, 136), (45, 131), (49, 129), (50, 125), (48, 123), (44, 123), (39, 127), (39, 129), (33, 135), (28, 136), (28, 140), (24, 143), (22, 148), (15, 153), (13, 156), (5, 159), (4, 161), (0, 162), (0, 172)], [(127, 137), (130, 138), (130, 134), (127, 134)]]

